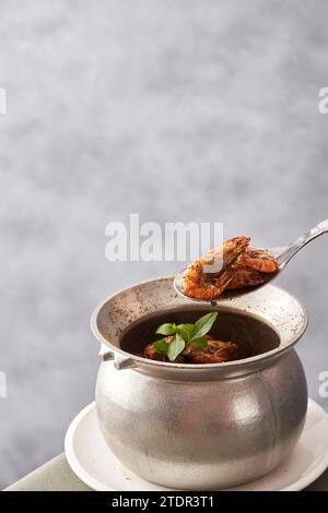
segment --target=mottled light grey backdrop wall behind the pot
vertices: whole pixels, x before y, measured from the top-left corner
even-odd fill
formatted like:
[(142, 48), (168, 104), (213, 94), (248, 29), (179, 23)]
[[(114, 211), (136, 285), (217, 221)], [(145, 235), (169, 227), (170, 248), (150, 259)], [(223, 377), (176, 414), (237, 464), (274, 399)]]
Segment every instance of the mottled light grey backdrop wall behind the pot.
[[(325, 0), (0, 0), (0, 486), (62, 451), (93, 398), (91, 310), (174, 263), (109, 264), (105, 226), (221, 220), (289, 242), (328, 217)], [(328, 237), (280, 278), (328, 369)]]

